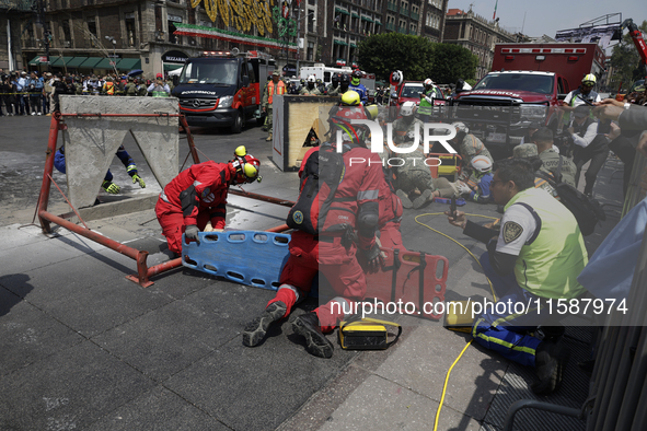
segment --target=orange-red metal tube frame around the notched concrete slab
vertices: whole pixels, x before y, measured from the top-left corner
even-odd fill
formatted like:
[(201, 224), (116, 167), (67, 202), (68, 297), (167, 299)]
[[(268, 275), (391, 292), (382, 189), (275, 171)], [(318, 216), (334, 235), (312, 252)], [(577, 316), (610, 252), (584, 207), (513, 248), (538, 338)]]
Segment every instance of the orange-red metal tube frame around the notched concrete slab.
[[(200, 163), (197, 150), (194, 144), (193, 136), (190, 135), (190, 130), (188, 128), (188, 124), (186, 123), (186, 119), (182, 114), (61, 114), (58, 112), (51, 116), (51, 123), (49, 124), (49, 139), (47, 142), (47, 152), (45, 158), (45, 172), (43, 174), (43, 185), (41, 186), (41, 194), (38, 196), (37, 205), (38, 220), (41, 222), (43, 231), (46, 233), (51, 233), (50, 223), (56, 223), (69, 231), (72, 231), (81, 236), (84, 236), (99, 244), (102, 244), (115, 252), (122, 253), (123, 255), (128, 256), (131, 259), (135, 259), (135, 261), (137, 263), (137, 275), (129, 275), (126, 276), (126, 278), (130, 281), (138, 283), (142, 288), (148, 288), (149, 286), (153, 284), (153, 282), (150, 281), (151, 277), (182, 266), (182, 258), (178, 257), (176, 259), (169, 260), (149, 268), (146, 263), (148, 258), (148, 252), (139, 251), (137, 248), (132, 248), (127, 245), (120, 244), (114, 240), (107, 238), (96, 232), (91, 231), (89, 228), (82, 228), (78, 224), (74, 224), (63, 219), (62, 217), (54, 215), (53, 213), (47, 211), (47, 205), (49, 202), (49, 191), (53, 182), (51, 173), (54, 170), (54, 158), (56, 153), (56, 144), (58, 141), (58, 131), (65, 130), (67, 127), (65, 125), (65, 117), (180, 117), (180, 125), (186, 132), (186, 138), (188, 141), (188, 147), (190, 150), (190, 154), (193, 156), (193, 161), (194, 163)], [(282, 206), (291, 207), (293, 205), (293, 202), (287, 200), (280, 200), (263, 195), (250, 194), (238, 190), (230, 190), (230, 193)], [(71, 203), (70, 207), (72, 207)], [(76, 209), (73, 207), (72, 210), (74, 210), (76, 212)], [(286, 224), (282, 224), (280, 226), (269, 229), (268, 232), (282, 232), (287, 229), (288, 226)]]

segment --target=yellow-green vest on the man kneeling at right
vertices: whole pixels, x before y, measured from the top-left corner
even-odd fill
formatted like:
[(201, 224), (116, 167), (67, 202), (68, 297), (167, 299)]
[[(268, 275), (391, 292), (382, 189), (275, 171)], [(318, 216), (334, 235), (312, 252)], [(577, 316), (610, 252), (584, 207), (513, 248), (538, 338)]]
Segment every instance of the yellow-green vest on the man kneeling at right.
[(519, 286), (553, 299), (573, 299), (585, 293), (577, 277), (588, 263), (584, 237), (573, 213), (545, 190), (519, 191), (506, 205), (531, 206), (541, 219), (541, 230), (530, 245), (523, 245), (515, 266)]

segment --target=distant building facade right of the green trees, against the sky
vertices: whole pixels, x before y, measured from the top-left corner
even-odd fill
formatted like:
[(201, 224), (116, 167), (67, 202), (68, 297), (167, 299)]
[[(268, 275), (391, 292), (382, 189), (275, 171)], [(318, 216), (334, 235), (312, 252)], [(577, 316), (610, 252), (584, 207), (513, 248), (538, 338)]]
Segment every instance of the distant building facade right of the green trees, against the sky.
[(498, 20), (488, 21), (472, 10), (450, 9), (447, 12), (442, 42), (467, 48), (478, 57), (476, 80), (492, 70), (494, 46), (518, 40), (518, 35), (499, 26)]

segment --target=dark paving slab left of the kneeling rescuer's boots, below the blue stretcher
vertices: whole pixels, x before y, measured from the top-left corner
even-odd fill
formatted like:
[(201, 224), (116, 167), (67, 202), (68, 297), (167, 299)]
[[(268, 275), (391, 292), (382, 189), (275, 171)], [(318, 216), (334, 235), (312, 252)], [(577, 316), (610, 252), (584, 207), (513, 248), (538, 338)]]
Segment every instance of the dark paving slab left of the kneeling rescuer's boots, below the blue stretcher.
[[(162, 382), (239, 336), (249, 310), (267, 299), (244, 286), (213, 282), (93, 338), (99, 346)], [(270, 295), (267, 295), (270, 298)]]

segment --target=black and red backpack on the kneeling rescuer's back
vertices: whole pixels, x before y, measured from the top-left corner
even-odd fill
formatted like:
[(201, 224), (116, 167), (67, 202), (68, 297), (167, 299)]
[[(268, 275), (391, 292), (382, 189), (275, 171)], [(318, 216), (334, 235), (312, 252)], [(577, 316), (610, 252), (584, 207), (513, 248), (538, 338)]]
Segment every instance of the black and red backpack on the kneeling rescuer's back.
[(301, 174), (301, 193), (286, 220), (288, 226), (319, 235), (345, 168), (344, 156), (328, 143), (310, 154)]

